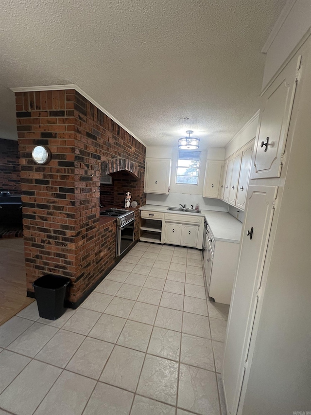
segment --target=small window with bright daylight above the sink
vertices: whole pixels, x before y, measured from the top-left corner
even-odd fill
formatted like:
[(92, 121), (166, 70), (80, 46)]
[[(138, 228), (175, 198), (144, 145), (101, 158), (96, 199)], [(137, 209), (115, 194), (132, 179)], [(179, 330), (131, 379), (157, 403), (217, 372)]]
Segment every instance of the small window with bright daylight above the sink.
[(198, 184), (200, 151), (178, 151), (176, 183)]

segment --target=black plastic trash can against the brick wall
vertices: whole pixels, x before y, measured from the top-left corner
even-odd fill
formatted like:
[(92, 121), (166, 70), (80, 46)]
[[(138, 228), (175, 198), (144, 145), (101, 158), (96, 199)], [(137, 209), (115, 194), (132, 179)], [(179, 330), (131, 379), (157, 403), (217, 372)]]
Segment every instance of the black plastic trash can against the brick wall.
[(52, 274), (43, 275), (33, 282), (40, 317), (56, 320), (64, 314), (69, 283), (69, 278)]

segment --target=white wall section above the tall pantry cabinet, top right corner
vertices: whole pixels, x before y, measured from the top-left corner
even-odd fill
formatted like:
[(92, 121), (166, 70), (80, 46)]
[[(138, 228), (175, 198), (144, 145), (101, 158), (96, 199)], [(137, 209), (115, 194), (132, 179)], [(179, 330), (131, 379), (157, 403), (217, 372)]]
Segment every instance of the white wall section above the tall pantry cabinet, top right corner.
[(284, 7), (284, 14), (280, 15), (279, 21), (283, 21), (283, 23), (280, 27), (276, 23), (276, 30), (272, 32), (272, 35), (274, 34), (275, 36), (272, 36), (272, 39), (268, 39), (268, 42), (269, 40), (273, 41), (267, 50), (262, 89), (268, 84), (300, 39), (310, 29), (310, 0), (289, 0), (286, 7)]

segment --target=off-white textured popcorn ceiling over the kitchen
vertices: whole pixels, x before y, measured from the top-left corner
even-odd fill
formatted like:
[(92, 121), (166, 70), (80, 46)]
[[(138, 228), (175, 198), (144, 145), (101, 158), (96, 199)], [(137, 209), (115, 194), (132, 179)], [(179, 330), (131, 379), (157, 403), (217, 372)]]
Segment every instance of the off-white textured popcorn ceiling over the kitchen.
[(259, 107), (285, 0), (1, 0), (0, 137), (13, 87), (76, 84), (146, 145), (224, 146)]

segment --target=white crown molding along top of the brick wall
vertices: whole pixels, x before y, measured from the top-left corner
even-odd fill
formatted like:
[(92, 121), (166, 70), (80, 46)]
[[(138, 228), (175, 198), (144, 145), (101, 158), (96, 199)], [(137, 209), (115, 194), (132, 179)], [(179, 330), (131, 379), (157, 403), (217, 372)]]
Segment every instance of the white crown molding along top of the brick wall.
[(121, 128), (123, 128), (125, 131), (127, 131), (129, 134), (131, 134), (132, 137), (134, 137), (139, 143), (143, 144), (145, 147), (147, 145), (140, 140), (138, 137), (136, 137), (135, 134), (133, 134), (128, 128), (123, 126), (115, 117), (113, 117), (108, 111), (106, 111), (100, 104), (98, 104), (93, 98), (91, 98), (84, 90), (79, 88), (75, 84), (65, 84), (65, 85), (41, 85), (41, 86), (35, 86), (35, 87), (17, 87), (17, 88), (10, 88), (13, 92), (34, 92), (34, 91), (55, 91), (55, 90), (76, 90), (81, 95), (83, 95), (89, 102), (91, 102), (93, 105), (95, 105), (96, 108), (100, 109), (104, 114), (106, 114), (109, 118), (111, 118), (115, 123), (117, 123)]

